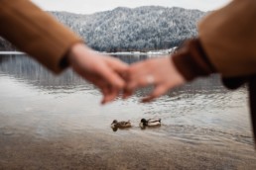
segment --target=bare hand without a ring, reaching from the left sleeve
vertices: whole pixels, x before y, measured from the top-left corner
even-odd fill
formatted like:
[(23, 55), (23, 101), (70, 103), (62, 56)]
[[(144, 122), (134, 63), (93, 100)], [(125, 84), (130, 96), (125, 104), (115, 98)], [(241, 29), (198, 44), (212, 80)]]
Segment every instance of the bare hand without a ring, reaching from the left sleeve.
[(76, 43), (71, 47), (67, 60), (76, 73), (101, 90), (102, 104), (113, 101), (125, 87), (121, 74), (127, 71), (128, 66), (116, 58)]

